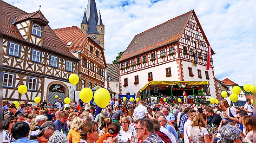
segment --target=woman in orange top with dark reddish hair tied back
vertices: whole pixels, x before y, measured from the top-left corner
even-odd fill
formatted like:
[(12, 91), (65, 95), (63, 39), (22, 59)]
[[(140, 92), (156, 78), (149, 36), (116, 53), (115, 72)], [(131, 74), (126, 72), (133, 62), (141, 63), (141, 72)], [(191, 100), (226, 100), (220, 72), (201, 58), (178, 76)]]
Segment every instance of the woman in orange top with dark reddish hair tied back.
[(116, 137), (120, 131), (121, 127), (119, 123), (112, 123), (109, 128), (108, 132), (99, 137), (99, 140), (96, 143), (103, 143), (104, 140), (107, 140), (108, 143), (114, 143), (114, 137)]

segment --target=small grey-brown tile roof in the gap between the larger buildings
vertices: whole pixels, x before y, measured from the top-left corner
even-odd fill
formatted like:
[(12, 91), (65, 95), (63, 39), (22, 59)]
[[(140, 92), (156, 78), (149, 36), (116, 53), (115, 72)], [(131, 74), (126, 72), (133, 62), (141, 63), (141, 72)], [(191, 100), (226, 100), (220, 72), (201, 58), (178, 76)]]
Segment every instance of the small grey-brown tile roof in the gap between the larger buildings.
[(110, 81), (119, 81), (119, 69), (117, 64), (107, 64), (107, 74)]

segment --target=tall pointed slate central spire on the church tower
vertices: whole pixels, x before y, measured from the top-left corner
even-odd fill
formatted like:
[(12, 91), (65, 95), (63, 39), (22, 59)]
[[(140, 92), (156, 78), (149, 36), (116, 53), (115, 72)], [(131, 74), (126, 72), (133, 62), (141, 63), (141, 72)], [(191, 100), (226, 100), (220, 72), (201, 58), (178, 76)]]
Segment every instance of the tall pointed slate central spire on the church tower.
[(87, 22), (89, 24), (88, 31), (86, 33), (99, 34), (96, 24), (98, 22), (98, 14), (95, 0), (88, 0), (88, 6), (86, 11)]

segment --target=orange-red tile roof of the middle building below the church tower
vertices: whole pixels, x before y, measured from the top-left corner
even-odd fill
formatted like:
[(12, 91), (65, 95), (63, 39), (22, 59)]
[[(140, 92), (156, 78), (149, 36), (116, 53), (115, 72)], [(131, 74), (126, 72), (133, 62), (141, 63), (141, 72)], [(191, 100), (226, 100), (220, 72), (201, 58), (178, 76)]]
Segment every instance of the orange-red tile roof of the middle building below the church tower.
[(77, 26), (53, 29), (55, 34), (67, 45), (68, 42), (72, 42), (70, 46), (67, 46), (70, 51), (82, 50), (85, 43), (88, 41), (88, 35), (81, 31)]

